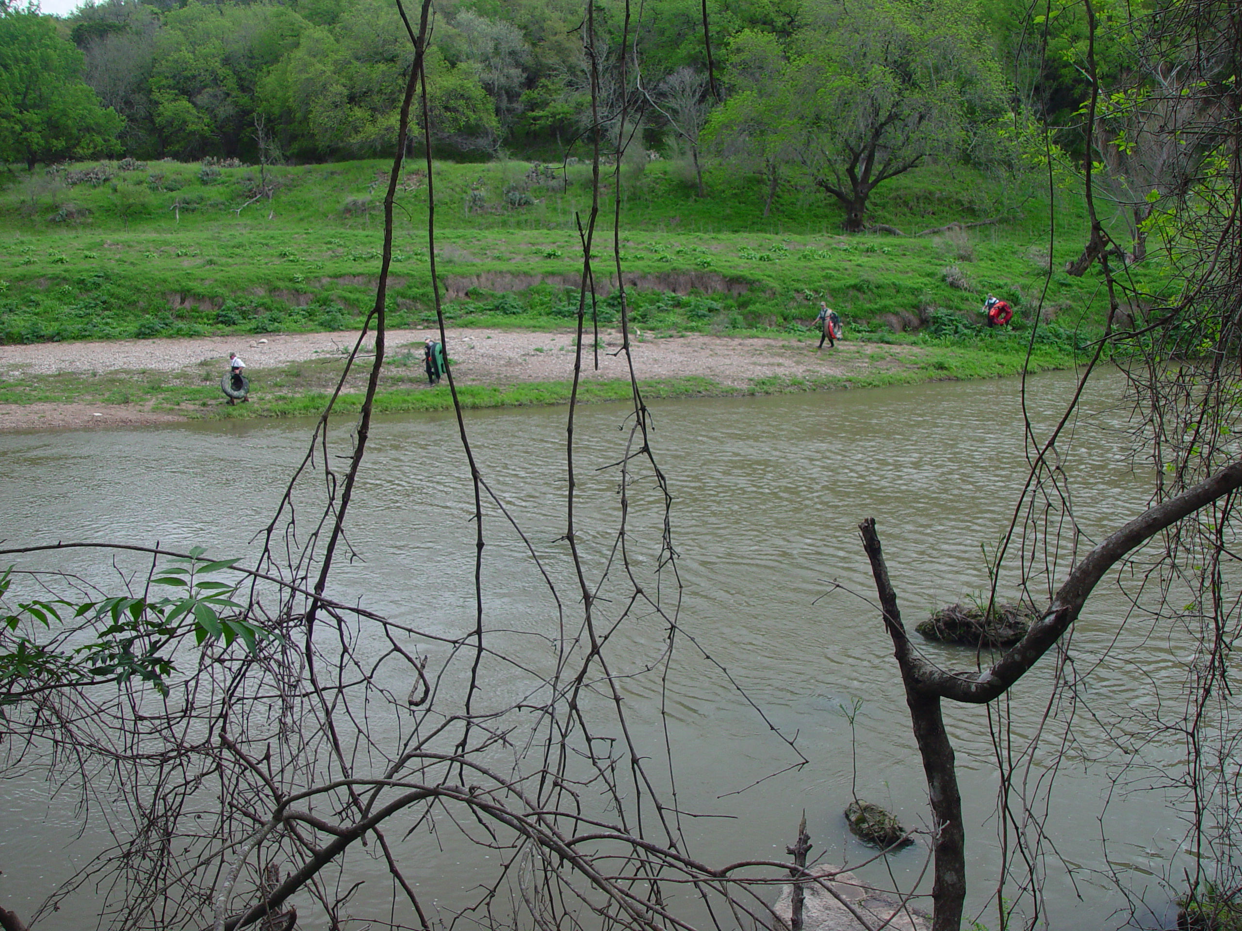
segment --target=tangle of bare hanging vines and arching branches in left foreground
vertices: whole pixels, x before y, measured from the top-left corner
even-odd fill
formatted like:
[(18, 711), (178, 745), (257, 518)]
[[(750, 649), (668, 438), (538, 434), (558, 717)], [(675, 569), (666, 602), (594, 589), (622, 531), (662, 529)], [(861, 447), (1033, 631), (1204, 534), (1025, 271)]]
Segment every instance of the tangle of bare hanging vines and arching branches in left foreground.
[[(303, 917), (312, 907), (337, 926), (354, 907), (353, 868), (374, 858), (392, 881), (391, 900), (376, 919), (427, 931), (436, 916), (409, 876), (401, 844), (410, 833), (435, 830), (488, 848), (496, 857), (497, 869), (473, 906), (488, 926), (581, 927), (597, 921), (647, 931), (689, 929), (681, 906), (669, 904), (678, 890), (693, 894), (719, 916), (718, 922), (779, 924), (766, 891), (787, 875), (790, 863), (749, 858), (710, 865), (693, 857), (676, 789), (672, 798), (662, 789), (672, 770), (652, 772), (647, 747), (627, 719), (622, 681), (636, 670), (628, 664), (619, 668), (609, 648), (622, 627), (651, 627), (662, 637), (645, 662), (652, 674), (667, 675), (677, 643), (681, 585), (671, 497), (636, 380), (612, 467), (619, 518), (606, 531), (611, 542), (601, 556), (587, 555), (580, 542), (581, 534), (594, 535), (596, 528), (589, 526), (592, 519), (578, 503), (576, 402), (569, 407), (564, 470), (569, 592), (563, 593), (563, 576), (540, 559), (504, 494), (492, 487), (476, 459), (450, 369), (473, 498), (472, 623), (447, 633), (332, 597), (333, 569), (353, 555), (351, 508), (386, 356), (392, 214), (414, 107), (422, 110), (425, 143), (430, 139), (422, 67), (428, 19), (426, 0), (417, 25), (406, 21), (415, 63), (385, 196), (374, 308), (262, 534), (260, 559), (248, 569), (235, 561), (212, 565), (216, 572), (240, 573), (225, 585), (236, 614), (224, 602), (219, 612), (191, 606), (186, 611), (196, 619), (186, 621), (189, 627), (169, 627), (166, 606), (147, 592), (152, 583), (175, 578), (178, 566), (189, 566), (185, 571), (191, 573), (206, 571), (201, 554), (104, 547), (140, 554), (150, 567), (125, 578), (119, 601), (103, 600), (122, 606), (116, 616), (111, 608), (84, 613), (77, 623), (57, 627), (51, 645), (68, 648), (75, 638), (93, 636), (113, 643), (109, 638), (117, 632), (108, 633), (107, 626), (130, 618), (122, 624), (122, 633), (125, 633), (122, 659), (116, 660), (122, 667), (113, 672), (91, 667), (96, 678), (86, 684), (65, 675), (55, 679), (65, 673), (55, 664), (27, 663), (5, 678), (4, 749), (10, 771), (41, 767), (76, 787), (92, 806), (123, 816), (112, 822), (116, 844), (58, 890), (45, 911), (89, 883), (104, 890), (103, 920), (117, 927), (232, 931), (258, 922), (292, 927), (298, 920), (292, 907), (296, 896)], [(589, 4), (589, 48), (594, 32), (594, 4)], [(626, 79), (623, 68), (620, 79)], [(597, 102), (595, 67), (591, 87)], [(628, 132), (633, 115), (635, 109), (622, 104), (615, 117), (617, 135)], [(600, 120), (592, 125), (599, 128)], [(575, 400), (586, 362), (602, 137), (592, 133), (596, 197), (582, 226)], [(430, 145), (425, 148), (433, 277), (435, 175)], [(614, 250), (620, 262), (619, 243)], [(443, 334), (438, 305), (437, 313)], [(330, 416), (349, 370), (364, 358), (364, 340), (373, 340), (366, 395), (355, 427), (337, 436)], [(647, 487), (655, 494), (638, 490)], [(640, 535), (648, 530), (655, 534), (648, 549), (661, 567), (655, 585), (631, 562)], [(529, 652), (509, 649), (514, 632), (494, 629), (489, 622), (483, 580), (488, 540), (497, 533), (512, 535), (527, 549), (545, 586), (546, 629), (553, 633), (540, 633), (534, 639), (538, 648)], [(72, 544), (43, 549), (66, 546)], [(5, 555), (29, 556), (36, 549)], [(73, 587), (63, 575), (46, 578), (65, 591)], [(93, 593), (82, 597), (102, 603)], [(32, 601), (25, 605), (41, 611)], [(12, 614), (17, 628), (34, 637), (37, 616), (19, 614)], [(104, 629), (96, 629), (101, 624)], [(209, 633), (219, 626), (222, 636), (195, 649), (188, 638), (200, 626)], [(2, 626), (0, 636), (10, 629)], [(243, 639), (243, 631), (270, 636), (256, 636), (248, 649), (235, 649), (226, 631)], [(53, 657), (56, 650), (46, 654)], [(124, 665), (130, 662), (125, 657), (135, 655), (145, 659), (134, 670), (149, 675)], [(73, 750), (56, 750), (65, 747)], [(801, 866), (795, 875), (804, 876)], [(821, 871), (802, 881), (840, 897), (828, 881), (835, 875)]]

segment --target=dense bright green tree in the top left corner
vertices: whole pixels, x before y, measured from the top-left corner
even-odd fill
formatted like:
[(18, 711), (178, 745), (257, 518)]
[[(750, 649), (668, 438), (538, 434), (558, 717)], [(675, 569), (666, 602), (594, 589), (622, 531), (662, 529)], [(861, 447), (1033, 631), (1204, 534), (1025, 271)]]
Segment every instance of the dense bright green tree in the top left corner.
[(0, 160), (111, 151), (124, 120), (82, 81), (82, 53), (37, 12), (0, 15)]

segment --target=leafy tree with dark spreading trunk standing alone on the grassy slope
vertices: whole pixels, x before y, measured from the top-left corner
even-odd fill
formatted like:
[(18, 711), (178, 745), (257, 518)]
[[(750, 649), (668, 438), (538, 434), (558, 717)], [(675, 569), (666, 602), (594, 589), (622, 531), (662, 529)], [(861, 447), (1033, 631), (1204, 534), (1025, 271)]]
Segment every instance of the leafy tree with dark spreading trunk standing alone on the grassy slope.
[[(792, 156), (862, 230), (877, 185), (930, 155), (955, 156), (1000, 110), (1001, 82), (972, 0), (863, 0), (826, 11), (722, 118)], [(770, 58), (770, 55), (769, 55)], [(770, 70), (770, 63), (769, 63)]]

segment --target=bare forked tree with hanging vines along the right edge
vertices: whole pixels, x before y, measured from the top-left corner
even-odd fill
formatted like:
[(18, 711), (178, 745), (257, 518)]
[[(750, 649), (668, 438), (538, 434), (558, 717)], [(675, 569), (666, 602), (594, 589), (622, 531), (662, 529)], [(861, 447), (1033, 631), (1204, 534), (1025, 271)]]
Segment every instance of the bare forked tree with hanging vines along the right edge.
[[(1095, 135), (1102, 125), (1099, 112), (1104, 89), (1095, 77), (1097, 21), (1090, 0), (1084, 5), (1087, 71), (1092, 82), (1086, 125), (1089, 135)], [(1242, 47), (1242, 22), (1236, 9), (1203, 0), (1160, 21), (1146, 41), (1153, 46), (1191, 50), (1200, 63), (1211, 62), (1196, 79), (1170, 78), (1159, 86), (1164, 88), (1163, 97), (1156, 92), (1144, 97), (1145, 122), (1138, 124), (1136, 132), (1150, 138), (1135, 140), (1135, 150), (1125, 153), (1128, 159), (1133, 158), (1126, 163), (1129, 170), (1138, 173), (1140, 169), (1135, 164), (1146, 159), (1141, 170), (1149, 171), (1148, 179), (1154, 181), (1159, 173), (1167, 182), (1158, 194), (1167, 199), (1166, 209), (1176, 211), (1177, 220), (1161, 228), (1163, 251), (1171, 259), (1170, 271), (1179, 278), (1179, 298), (1172, 304), (1163, 303), (1159, 295), (1143, 293), (1124, 268), (1112, 266), (1110, 257), (1118, 250), (1112, 247), (1097, 214), (1095, 169), (1088, 164), (1083, 191), (1092, 237), (1083, 256), (1072, 263), (1072, 271), (1081, 274), (1090, 264), (1099, 263), (1109, 303), (1108, 328), (1104, 339), (1093, 349), (1072, 403), (1051, 433), (1037, 439), (1035, 428), (1026, 422), (1028, 478), (1018, 495), (1009, 533), (989, 566), (994, 580), (990, 611), (1010, 547), (1017, 549), (1017, 583), (1027, 598), (1040, 605), (1038, 619), (1021, 642), (1001, 655), (985, 660), (980, 654), (981, 662), (974, 670), (938, 667), (922, 655), (902, 624), (874, 521), (861, 525), (884, 624), (905, 686), (935, 817), (933, 899), (936, 931), (958, 930), (966, 891), (961, 806), (953, 747), (941, 720), (941, 701), (994, 703), (1041, 657), (1053, 650), (1058, 654), (1058, 669), (1062, 669), (1068, 662), (1063, 638), (1095, 586), (1122, 565), (1140, 580), (1140, 588), (1153, 591), (1154, 603), (1144, 611), (1169, 623), (1169, 636), (1177, 638), (1180, 647), (1191, 654), (1181, 691), (1174, 701), (1175, 710), (1166, 713), (1161, 701), (1154, 716), (1140, 717), (1138, 713), (1134, 724), (1150, 735), (1149, 740), (1171, 736), (1185, 746), (1184, 775), (1171, 778), (1161, 773), (1158, 785), (1182, 792), (1181, 803), (1186, 806), (1190, 825), (1184, 844), (1195, 852), (1194, 875), (1187, 874), (1185, 883), (1182, 876), (1166, 876), (1165, 880), (1175, 895), (1180, 886), (1177, 897), (1187, 912), (1182, 919), (1186, 926), (1196, 926), (1196, 921), (1213, 914), (1212, 909), (1238, 894), (1236, 852), (1242, 821), (1235, 794), (1237, 771), (1225, 761), (1236, 752), (1240, 731), (1237, 709), (1225, 693), (1230, 689), (1227, 654), (1242, 632), (1240, 603), (1228, 593), (1232, 577), (1228, 564), (1236, 560), (1230, 541), (1238, 528), (1236, 501), (1242, 487), (1242, 459), (1231, 439), (1238, 425), (1233, 398), (1240, 377), (1231, 361), (1242, 354), (1242, 303), (1238, 298), (1242, 293), (1242, 261), (1238, 259), (1242, 254), (1242, 120), (1236, 118), (1235, 89), (1242, 61), (1236, 53)], [(1233, 115), (1226, 118), (1225, 114)], [(1141, 155), (1138, 154), (1140, 143), (1144, 145)], [(1107, 144), (1118, 150), (1128, 148), (1119, 144), (1115, 135), (1108, 143), (1093, 140), (1090, 144)], [(1208, 165), (1208, 170), (1196, 168)], [(1114, 331), (1114, 323), (1123, 319), (1118, 313), (1123, 302), (1131, 308), (1150, 309), (1140, 309), (1130, 322), (1133, 326), (1128, 324)], [(1058, 442), (1105, 346), (1112, 346), (1114, 359), (1123, 361), (1134, 410), (1134, 448), (1136, 456), (1153, 467), (1153, 503), (1079, 559), (1082, 531), (1074, 518)], [(1069, 534), (1068, 540), (1064, 533)], [(1131, 555), (1149, 541), (1153, 541), (1154, 552), (1145, 564), (1131, 562)], [(1056, 570), (1066, 554), (1071, 566), (1053, 590)], [(1049, 586), (1042, 605), (1035, 591), (1038, 578)], [(1119, 618), (1119, 623), (1124, 623), (1124, 618)], [(1076, 683), (1058, 674), (1056, 691), (1073, 691), (1074, 688)], [(991, 710), (989, 713), (994, 727), (1004, 717), (1000, 711), (995, 716)], [(1009, 811), (1012, 770), (1005, 768), (1006, 751), (1000, 750), (1009, 737), (994, 731), (994, 740), (999, 762), (1002, 762), (999, 821), (1006, 832), (1011, 824), (1020, 832), (1018, 819)], [(1033, 747), (1027, 752), (1033, 752)], [(1026, 813), (1031, 813), (1030, 808)], [(1035, 829), (1040, 829), (1038, 823)], [(1021, 837), (1017, 843), (1023, 844)], [(1028, 873), (1023, 890), (1037, 899), (1037, 866), (1031, 853), (1022, 847)], [(996, 895), (1002, 927), (1009, 921), (1002, 891), (1006, 875), (1007, 865), (1002, 863)], [(1201, 896), (1212, 896), (1215, 901), (1200, 906)], [(1197, 907), (1203, 911), (1195, 912)], [(1035, 917), (1030, 921), (1033, 924)]]

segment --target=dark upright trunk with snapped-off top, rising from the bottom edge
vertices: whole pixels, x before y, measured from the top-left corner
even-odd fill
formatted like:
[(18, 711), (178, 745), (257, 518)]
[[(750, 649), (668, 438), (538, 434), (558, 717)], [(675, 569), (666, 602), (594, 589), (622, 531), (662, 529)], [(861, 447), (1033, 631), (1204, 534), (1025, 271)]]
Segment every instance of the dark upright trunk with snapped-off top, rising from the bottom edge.
[(893, 641), (893, 653), (902, 684), (905, 686), (905, 704), (910, 709), (914, 739), (923, 757), (923, 772), (932, 799), (935, 819), (935, 879), (932, 885), (932, 931), (960, 931), (961, 911), (966, 902), (966, 832), (961, 824), (961, 793), (958, 791), (958, 771), (953, 744), (944, 729), (940, 714), (940, 696), (920, 688), (910, 658), (909, 639), (897, 608), (897, 593), (888, 580), (888, 566), (879, 546), (874, 518), (858, 525), (863, 549), (871, 560), (876, 577), (876, 591), (884, 609), (884, 627)]

